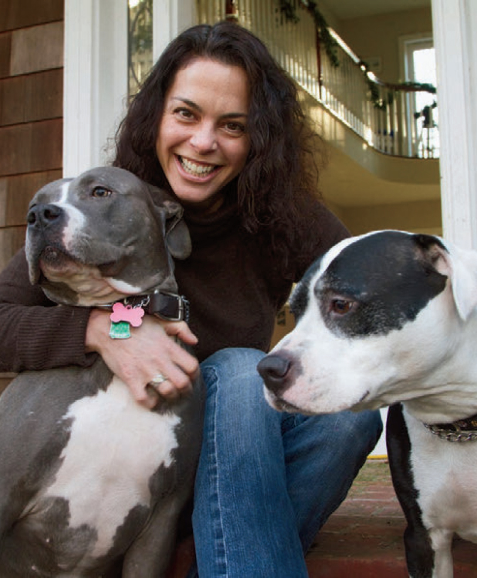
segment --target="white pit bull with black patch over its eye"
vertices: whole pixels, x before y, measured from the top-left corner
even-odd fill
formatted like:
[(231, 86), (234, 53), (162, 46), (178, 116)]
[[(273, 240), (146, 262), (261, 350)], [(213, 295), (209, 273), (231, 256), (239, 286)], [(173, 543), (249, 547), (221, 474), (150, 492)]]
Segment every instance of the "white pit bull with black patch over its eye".
[(279, 410), (392, 405), (412, 578), (451, 578), (454, 534), (477, 542), (476, 306), (477, 252), (400, 231), (346, 239), (295, 288), (297, 325), (258, 366)]

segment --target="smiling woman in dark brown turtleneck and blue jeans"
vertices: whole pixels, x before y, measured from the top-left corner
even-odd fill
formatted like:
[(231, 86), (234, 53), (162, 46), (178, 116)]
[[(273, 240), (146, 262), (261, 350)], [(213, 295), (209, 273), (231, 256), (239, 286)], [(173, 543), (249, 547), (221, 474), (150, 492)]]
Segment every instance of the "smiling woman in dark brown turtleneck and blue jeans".
[(256, 371), (293, 281), (347, 236), (317, 200), (320, 147), (260, 40), (232, 23), (190, 28), (132, 101), (114, 160), (184, 206), (193, 252), (176, 277), (190, 327), (148, 317), (118, 342), (108, 313), (58, 311), (29, 288), (22, 254), (0, 279), (3, 370), (88, 365), (99, 353), (151, 407), (154, 377), (174, 397), (198, 369), (168, 336), (195, 346), (208, 388), (193, 515), (206, 578), (307, 576), (304, 553), (381, 432), (376, 412), (275, 412)]

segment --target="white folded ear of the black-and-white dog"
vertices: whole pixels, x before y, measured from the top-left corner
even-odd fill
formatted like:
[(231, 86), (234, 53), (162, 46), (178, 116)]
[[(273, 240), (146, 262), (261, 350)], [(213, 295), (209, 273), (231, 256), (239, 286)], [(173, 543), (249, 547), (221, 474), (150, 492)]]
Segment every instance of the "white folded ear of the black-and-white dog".
[(443, 260), (449, 265), (452, 293), (457, 312), (464, 321), (477, 307), (477, 251), (460, 249), (453, 243), (443, 242)]

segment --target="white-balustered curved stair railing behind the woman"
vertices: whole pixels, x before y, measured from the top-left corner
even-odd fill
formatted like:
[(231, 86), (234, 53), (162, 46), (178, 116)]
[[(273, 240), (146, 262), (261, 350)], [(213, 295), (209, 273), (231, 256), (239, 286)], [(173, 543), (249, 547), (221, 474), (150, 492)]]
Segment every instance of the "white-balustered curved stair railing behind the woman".
[(299, 86), (369, 146), (404, 157), (439, 156), (432, 91), (383, 83), (330, 29), (339, 61), (333, 65), (302, 3), (296, 3), (298, 23), (286, 21), (279, 6), (279, 0), (198, 0), (197, 12), (201, 23), (223, 20), (231, 16), (226, 12), (234, 12), (239, 24), (265, 42)]

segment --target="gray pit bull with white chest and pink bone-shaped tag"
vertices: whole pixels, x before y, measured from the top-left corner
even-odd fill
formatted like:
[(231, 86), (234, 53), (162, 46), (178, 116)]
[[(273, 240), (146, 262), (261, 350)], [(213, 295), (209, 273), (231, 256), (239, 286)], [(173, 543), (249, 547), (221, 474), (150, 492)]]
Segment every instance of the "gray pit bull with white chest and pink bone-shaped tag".
[[(164, 191), (95, 168), (39, 190), (27, 221), (30, 279), (58, 306), (181, 317), (172, 257), (190, 237)], [(165, 576), (203, 399), (198, 380), (147, 410), (101, 358), (16, 377), (0, 397), (0, 576), (121, 576), (121, 561), (123, 577)]]

